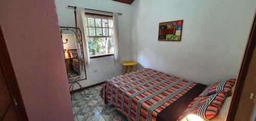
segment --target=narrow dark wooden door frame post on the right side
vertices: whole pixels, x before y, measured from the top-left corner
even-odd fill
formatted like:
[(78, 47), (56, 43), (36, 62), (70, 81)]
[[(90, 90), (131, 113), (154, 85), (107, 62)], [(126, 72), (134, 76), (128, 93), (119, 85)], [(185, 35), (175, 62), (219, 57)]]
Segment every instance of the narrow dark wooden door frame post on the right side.
[(236, 116), (238, 104), (240, 101), (240, 96), (243, 91), (243, 87), (244, 87), (245, 79), (249, 69), (249, 65), (251, 62), (252, 54), (255, 49), (255, 44), (256, 44), (256, 12), (254, 13), (254, 19), (251, 26), (249, 39), (246, 45), (246, 50), (244, 52), (243, 61), (240, 67), (237, 84), (233, 93), (233, 98), (232, 98), (229, 112), (227, 115), (227, 121), (234, 120), (234, 117)]

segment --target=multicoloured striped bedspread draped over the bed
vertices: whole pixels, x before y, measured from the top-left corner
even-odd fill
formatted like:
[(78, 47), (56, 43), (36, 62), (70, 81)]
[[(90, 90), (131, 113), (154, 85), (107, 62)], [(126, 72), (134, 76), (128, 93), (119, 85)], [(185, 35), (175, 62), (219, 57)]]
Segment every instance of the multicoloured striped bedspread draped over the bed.
[[(129, 120), (149, 121), (157, 120), (161, 111), (179, 100), (196, 85), (197, 83), (193, 81), (144, 68), (107, 80), (101, 89), (100, 96), (106, 98), (108, 103), (115, 105), (116, 109)], [(195, 96), (199, 94), (200, 92)], [(187, 105), (183, 106), (184, 110), (193, 99), (187, 101)], [(180, 111), (180, 114), (184, 110)], [(179, 116), (178, 114), (176, 117)]]

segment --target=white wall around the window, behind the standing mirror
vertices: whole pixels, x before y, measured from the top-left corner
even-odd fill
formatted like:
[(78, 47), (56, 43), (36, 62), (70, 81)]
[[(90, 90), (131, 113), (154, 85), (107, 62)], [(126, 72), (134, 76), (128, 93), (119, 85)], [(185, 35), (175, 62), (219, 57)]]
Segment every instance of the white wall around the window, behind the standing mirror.
[[(122, 13), (123, 15), (119, 16), (120, 62), (131, 59), (131, 51), (129, 51), (131, 48), (132, 40), (130, 5), (114, 2), (111, 0), (56, 0), (55, 4), (59, 26), (75, 27), (74, 10), (67, 8), (68, 5)], [(81, 81), (80, 84), (85, 87), (120, 75), (123, 67), (120, 63), (115, 63), (113, 58), (113, 56), (110, 56), (91, 59), (91, 64), (86, 66), (87, 80)], [(98, 72), (94, 72), (96, 69)], [(75, 87), (75, 89), (76, 88), (77, 87)]]

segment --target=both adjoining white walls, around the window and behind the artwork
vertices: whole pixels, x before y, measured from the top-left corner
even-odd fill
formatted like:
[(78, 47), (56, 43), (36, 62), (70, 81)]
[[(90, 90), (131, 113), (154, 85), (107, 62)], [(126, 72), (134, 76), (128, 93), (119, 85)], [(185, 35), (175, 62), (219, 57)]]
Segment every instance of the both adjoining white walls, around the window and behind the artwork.
[[(55, 0), (60, 26), (75, 26), (67, 6), (123, 13), (119, 17), (120, 62), (135, 60), (149, 67), (203, 84), (236, 78), (250, 31), (256, 1)], [(159, 22), (183, 19), (180, 42), (158, 41)], [(93, 72), (98, 69), (98, 72)], [(91, 59), (89, 86), (120, 75), (113, 57)]]

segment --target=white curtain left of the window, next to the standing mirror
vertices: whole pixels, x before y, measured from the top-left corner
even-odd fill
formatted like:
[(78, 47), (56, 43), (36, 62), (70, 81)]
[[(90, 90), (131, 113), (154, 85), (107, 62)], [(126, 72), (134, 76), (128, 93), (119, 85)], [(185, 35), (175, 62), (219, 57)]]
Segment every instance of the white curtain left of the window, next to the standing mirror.
[(76, 21), (77, 21), (77, 28), (81, 30), (82, 36), (82, 44), (83, 44), (83, 55), (84, 55), (84, 62), (86, 64), (90, 64), (90, 54), (89, 54), (89, 46), (86, 37), (86, 21), (84, 15), (84, 8), (76, 8)]

